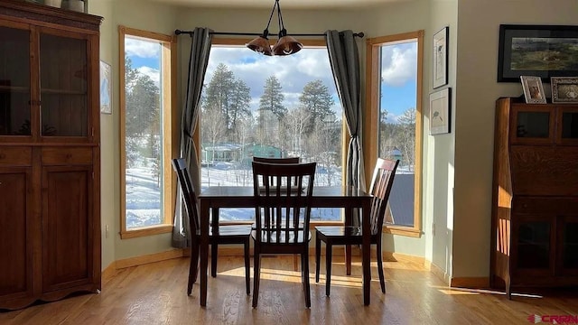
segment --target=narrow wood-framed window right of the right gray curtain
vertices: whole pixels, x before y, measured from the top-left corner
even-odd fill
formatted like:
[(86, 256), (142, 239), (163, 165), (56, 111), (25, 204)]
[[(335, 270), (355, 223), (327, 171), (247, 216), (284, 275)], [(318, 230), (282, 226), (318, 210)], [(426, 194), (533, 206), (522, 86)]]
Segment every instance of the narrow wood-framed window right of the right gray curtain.
[(414, 237), (421, 231), (423, 41), (423, 31), (367, 41), (366, 171), (377, 157), (400, 160), (385, 231)]

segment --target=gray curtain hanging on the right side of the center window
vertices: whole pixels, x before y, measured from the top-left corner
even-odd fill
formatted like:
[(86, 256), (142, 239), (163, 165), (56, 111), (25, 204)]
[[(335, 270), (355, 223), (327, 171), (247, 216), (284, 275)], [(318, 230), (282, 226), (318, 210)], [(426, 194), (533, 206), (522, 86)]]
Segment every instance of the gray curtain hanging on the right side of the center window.
[[(361, 147), (361, 90), (359, 76), (359, 51), (352, 31), (327, 31), (327, 51), (341, 107), (350, 131), (347, 151), (347, 185), (366, 189), (363, 169), (363, 148)], [(357, 211), (356, 211), (357, 212)], [(359, 215), (353, 224), (359, 225)]]

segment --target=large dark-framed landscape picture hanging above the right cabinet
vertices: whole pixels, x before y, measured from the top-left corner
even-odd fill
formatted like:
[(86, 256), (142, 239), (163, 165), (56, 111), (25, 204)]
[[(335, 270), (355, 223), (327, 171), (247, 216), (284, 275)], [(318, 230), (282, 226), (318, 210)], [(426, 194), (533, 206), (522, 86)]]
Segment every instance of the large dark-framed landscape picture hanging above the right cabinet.
[(578, 25), (499, 25), (498, 82), (578, 76)]

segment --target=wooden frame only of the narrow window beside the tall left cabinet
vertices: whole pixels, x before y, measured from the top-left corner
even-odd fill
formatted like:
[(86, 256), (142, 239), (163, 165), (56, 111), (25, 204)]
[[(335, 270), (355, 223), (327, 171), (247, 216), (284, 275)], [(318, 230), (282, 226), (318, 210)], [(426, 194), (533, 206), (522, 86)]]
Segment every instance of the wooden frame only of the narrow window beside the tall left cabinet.
[(120, 174), (120, 238), (146, 237), (172, 232), (176, 182), (170, 163), (163, 164), (163, 223), (154, 226), (126, 228), (126, 91), (125, 91), (125, 40), (126, 36), (158, 41), (163, 46), (163, 162), (168, 162), (178, 154), (178, 141), (175, 132), (179, 121), (176, 109), (177, 93), (177, 38), (176, 35), (165, 35), (118, 26), (118, 106), (119, 106), (119, 174)]

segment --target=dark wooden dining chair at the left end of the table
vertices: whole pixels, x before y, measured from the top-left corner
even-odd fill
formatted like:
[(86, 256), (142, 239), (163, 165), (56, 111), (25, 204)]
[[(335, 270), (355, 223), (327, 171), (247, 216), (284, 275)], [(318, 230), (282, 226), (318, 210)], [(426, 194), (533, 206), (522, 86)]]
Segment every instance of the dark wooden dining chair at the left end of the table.
[[(187, 294), (191, 294), (192, 283), (197, 281), (199, 273), (199, 250), (200, 250), (200, 216), (197, 207), (197, 196), (191, 183), (191, 176), (187, 169), (187, 164), (183, 158), (172, 159), (172, 168), (177, 173), (179, 184), (181, 185), (184, 207), (189, 216), (189, 228), (191, 230), (191, 266), (189, 267), (189, 283), (187, 284)], [(209, 218), (203, 216), (202, 218)], [(210, 257), (211, 275), (217, 276), (217, 247), (220, 244), (242, 244), (245, 255), (245, 284), (247, 294), (250, 293), (250, 265), (249, 265), (249, 241), (251, 226), (235, 225), (222, 226), (212, 223), (209, 228), (209, 244), (212, 249)]]

